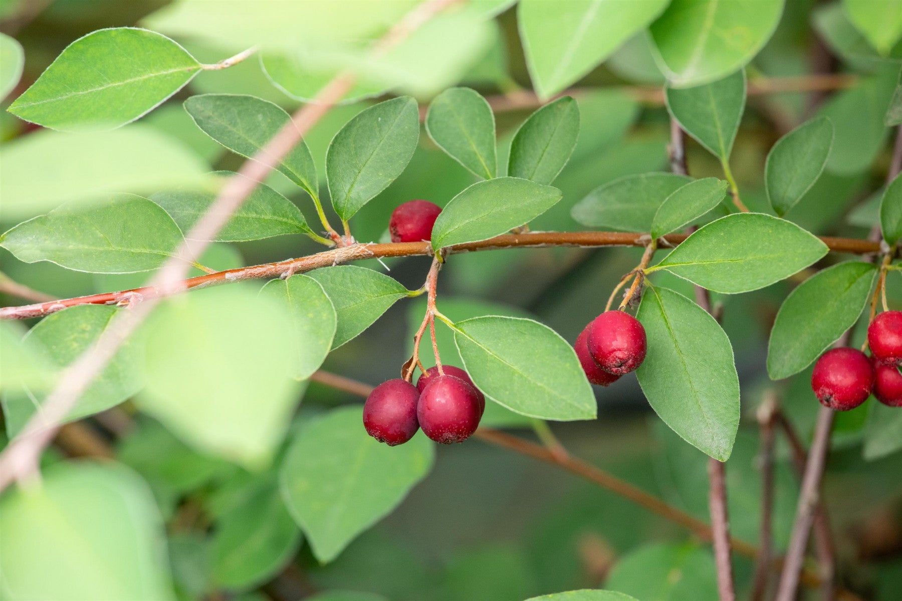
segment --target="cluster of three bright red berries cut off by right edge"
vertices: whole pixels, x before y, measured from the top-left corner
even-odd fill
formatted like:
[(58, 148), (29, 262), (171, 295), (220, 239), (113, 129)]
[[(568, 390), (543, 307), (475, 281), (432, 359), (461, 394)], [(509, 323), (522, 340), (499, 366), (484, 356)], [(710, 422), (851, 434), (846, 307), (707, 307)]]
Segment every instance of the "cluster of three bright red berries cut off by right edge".
[(871, 356), (857, 348), (833, 348), (815, 363), (811, 387), (824, 407), (849, 411), (871, 393), (889, 407), (902, 407), (902, 311), (884, 311), (870, 322)]

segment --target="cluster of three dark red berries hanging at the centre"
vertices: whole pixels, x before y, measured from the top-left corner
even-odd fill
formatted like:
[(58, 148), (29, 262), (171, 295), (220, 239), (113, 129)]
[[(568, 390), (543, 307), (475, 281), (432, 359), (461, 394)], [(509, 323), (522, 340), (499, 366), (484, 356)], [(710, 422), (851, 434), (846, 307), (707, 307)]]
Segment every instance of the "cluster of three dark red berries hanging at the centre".
[(413, 438), (419, 428), (442, 444), (463, 442), (476, 431), (485, 395), (460, 367), (430, 367), (414, 386), (396, 378), (376, 386), (364, 403), (364, 428), (390, 447)]

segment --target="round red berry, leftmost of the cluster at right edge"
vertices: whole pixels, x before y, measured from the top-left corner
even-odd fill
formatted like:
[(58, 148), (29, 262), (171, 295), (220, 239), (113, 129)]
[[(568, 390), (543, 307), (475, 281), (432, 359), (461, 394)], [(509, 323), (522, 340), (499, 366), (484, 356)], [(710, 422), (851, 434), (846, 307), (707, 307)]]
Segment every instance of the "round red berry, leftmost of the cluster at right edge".
[(874, 369), (870, 359), (857, 348), (832, 348), (815, 363), (811, 388), (817, 400), (830, 409), (849, 411), (870, 396)]

